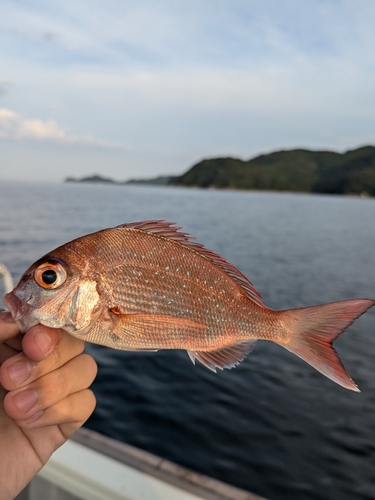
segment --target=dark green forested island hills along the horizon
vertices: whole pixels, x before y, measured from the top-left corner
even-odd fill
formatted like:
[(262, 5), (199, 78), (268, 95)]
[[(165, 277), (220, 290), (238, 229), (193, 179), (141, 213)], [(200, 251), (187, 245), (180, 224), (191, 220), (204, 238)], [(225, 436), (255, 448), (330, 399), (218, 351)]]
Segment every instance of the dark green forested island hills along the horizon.
[[(101, 176), (66, 181), (119, 184)], [(200, 161), (180, 176), (132, 179), (120, 184), (375, 196), (375, 147), (364, 146), (345, 153), (294, 149), (250, 160), (212, 158)]]

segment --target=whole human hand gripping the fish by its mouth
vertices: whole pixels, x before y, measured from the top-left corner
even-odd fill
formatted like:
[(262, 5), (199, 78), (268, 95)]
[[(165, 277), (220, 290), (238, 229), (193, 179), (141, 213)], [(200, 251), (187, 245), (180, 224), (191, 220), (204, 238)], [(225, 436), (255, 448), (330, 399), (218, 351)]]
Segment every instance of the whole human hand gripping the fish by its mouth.
[[(88, 419), (96, 376), (84, 342), (37, 325), (20, 335), (0, 311), (0, 490), (13, 499)], [(9, 392), (7, 392), (9, 391)]]

